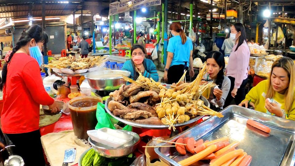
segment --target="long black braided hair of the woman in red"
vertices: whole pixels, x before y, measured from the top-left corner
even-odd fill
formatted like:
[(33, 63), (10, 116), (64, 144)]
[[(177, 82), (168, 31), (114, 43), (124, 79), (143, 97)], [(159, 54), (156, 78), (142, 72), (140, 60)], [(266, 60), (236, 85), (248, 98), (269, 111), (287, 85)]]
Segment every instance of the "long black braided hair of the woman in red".
[(12, 49), (12, 53), (10, 54), (8, 61), (4, 64), (2, 69), (2, 78), (0, 78), (0, 90), (3, 90), (3, 87), (6, 83), (7, 76), (7, 64), (11, 61), (15, 52), (17, 52), (20, 48), (27, 45), (32, 39), (35, 39), (37, 42), (48, 42), (48, 36), (45, 30), (39, 25), (28, 26), (26, 30), (22, 32), (19, 41), (16, 43), (15, 47)]

